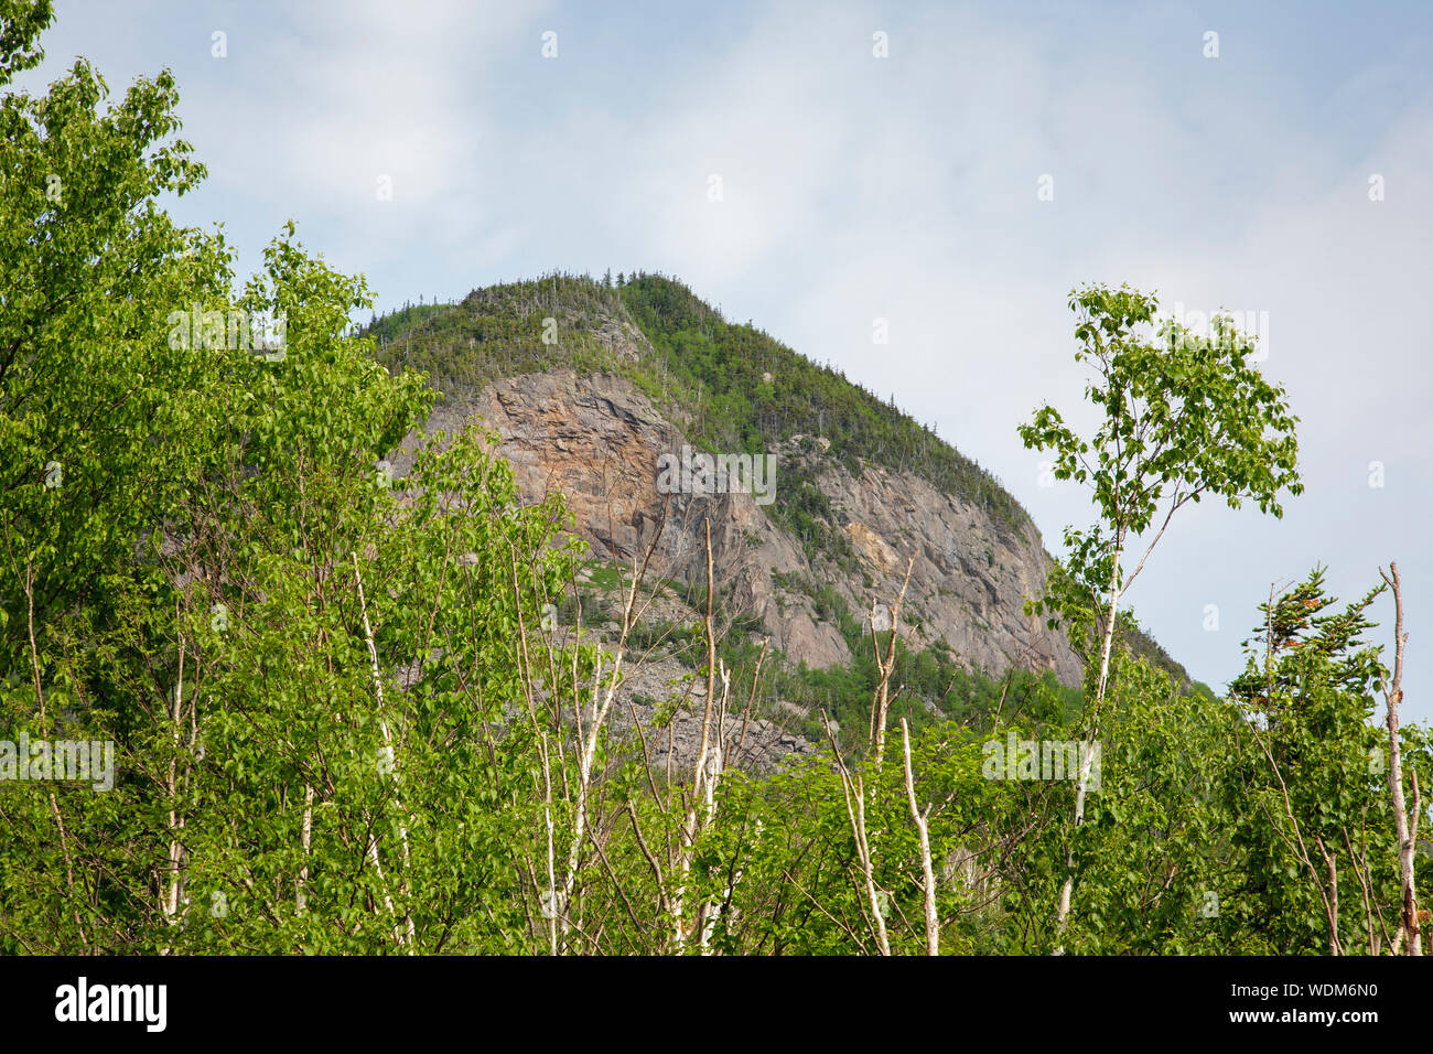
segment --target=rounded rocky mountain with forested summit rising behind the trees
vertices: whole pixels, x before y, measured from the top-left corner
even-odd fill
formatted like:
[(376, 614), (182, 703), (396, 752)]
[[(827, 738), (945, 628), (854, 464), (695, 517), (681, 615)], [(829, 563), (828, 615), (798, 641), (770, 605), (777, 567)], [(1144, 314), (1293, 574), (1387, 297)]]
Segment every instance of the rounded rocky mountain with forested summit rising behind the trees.
[[(868, 664), (871, 605), (894, 601), (910, 562), (900, 621), (907, 650), (936, 670), (910, 671), (927, 710), (950, 711), (960, 671), (1080, 683), (1068, 641), (1023, 612), (1052, 561), (990, 473), (675, 280), (549, 275), (460, 304), (408, 305), (368, 333), (384, 366), (424, 370), (443, 393), (430, 427), (480, 416), (524, 500), (563, 495), (590, 546), (586, 585), (606, 584), (609, 607), (612, 565), (641, 559), (655, 539), (649, 576), (666, 601), (656, 609), (679, 635), (705, 588), (709, 519), (729, 637), (768, 637), (782, 665)], [(731, 469), (718, 467), (715, 485), (702, 485), (704, 455)], [(749, 457), (738, 465), (734, 455)], [(396, 459), (400, 475), (406, 465)], [(1158, 645), (1136, 647), (1187, 683)], [(804, 688), (772, 690), (805, 697), (781, 700), (794, 713), (813, 700), (841, 713), (821, 685), (808, 677)], [(980, 694), (969, 681), (964, 690), (966, 703)]]

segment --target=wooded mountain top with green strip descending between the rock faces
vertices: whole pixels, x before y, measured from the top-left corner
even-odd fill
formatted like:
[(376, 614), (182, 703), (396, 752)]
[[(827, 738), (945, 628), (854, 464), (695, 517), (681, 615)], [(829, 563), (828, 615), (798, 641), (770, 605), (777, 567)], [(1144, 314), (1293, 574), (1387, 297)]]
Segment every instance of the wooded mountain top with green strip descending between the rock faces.
[[(471, 407), (474, 393), (492, 381), (573, 369), (626, 379), (699, 449), (782, 450), (781, 499), (764, 512), (810, 562), (808, 574), (787, 578), (808, 598), (825, 597), (810, 605), (811, 614), (830, 627), (827, 635), (838, 651), (850, 637), (843, 627), (860, 621), (866, 605), (860, 584), (870, 587), (870, 574), (851, 535), (841, 529), (833, 500), (840, 502), (843, 490), (850, 496), (863, 488), (857, 482), (863, 466), (909, 475), (959, 499), (989, 525), (996, 549), (1033, 545), (1039, 551), (1039, 535), (1015, 498), (929, 427), (759, 328), (727, 321), (665, 275), (613, 281), (610, 275), (552, 274), (492, 285), (459, 304), (407, 304), (374, 317), (367, 333), (390, 370), (426, 371), (454, 410)], [(549, 397), (535, 396), (529, 416)], [(818, 445), (813, 443), (817, 437)], [(535, 436), (532, 456), (550, 462), (555, 455), (543, 445)], [(990, 543), (980, 542), (974, 555), (980, 572), (987, 562), (999, 572)], [(851, 585), (837, 591), (833, 582)], [(1013, 602), (1017, 607), (1019, 598)], [(940, 622), (953, 612), (936, 604), (926, 615), (927, 622)], [(954, 617), (977, 627), (990, 621), (989, 614), (974, 611)], [(1184, 668), (1132, 624), (1126, 637), (1176, 683), (1188, 684)], [(967, 665), (984, 664), (967, 660)]]

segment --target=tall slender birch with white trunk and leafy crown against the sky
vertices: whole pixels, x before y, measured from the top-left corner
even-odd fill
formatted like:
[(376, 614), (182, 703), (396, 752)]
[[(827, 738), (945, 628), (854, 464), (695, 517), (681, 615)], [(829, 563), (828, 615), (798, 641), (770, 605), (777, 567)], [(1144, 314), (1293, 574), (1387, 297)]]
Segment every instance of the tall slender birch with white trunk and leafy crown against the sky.
[[(1086, 400), (1099, 413), (1089, 439), (1059, 410), (1039, 407), (1019, 429), (1026, 447), (1052, 450), (1056, 479), (1091, 489), (1099, 522), (1065, 532), (1070, 588), (1049, 605), (1068, 624), (1089, 625), (1098, 658), (1089, 685), (1085, 741), (1098, 737), (1109, 678), (1119, 602), (1134, 585), (1174, 515), (1201, 498), (1222, 498), (1231, 509), (1254, 502), (1283, 515), (1280, 492), (1300, 493), (1294, 417), (1281, 386), (1254, 367), (1251, 337), (1227, 315), (1207, 336), (1172, 321), (1156, 324), (1158, 301), (1121, 285), (1082, 287), (1070, 294), (1076, 315), (1075, 360), (1089, 366)], [(1132, 564), (1126, 574), (1126, 564)], [(1052, 619), (1053, 625), (1055, 619)], [(1085, 817), (1089, 757), (1075, 787), (1073, 826)], [(1072, 837), (1056, 909), (1056, 934), (1070, 913), (1076, 876)], [(1063, 946), (1058, 948), (1063, 951)]]

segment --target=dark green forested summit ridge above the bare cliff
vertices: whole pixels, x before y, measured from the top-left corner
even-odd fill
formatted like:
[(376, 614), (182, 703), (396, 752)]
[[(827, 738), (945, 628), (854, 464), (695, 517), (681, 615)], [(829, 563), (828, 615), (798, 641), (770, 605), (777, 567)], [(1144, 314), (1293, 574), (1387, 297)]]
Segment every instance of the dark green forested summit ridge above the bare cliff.
[[(562, 341), (543, 343), (545, 318), (562, 321)], [(599, 333), (622, 323), (635, 324), (651, 350), (635, 360), (612, 354)], [(999, 480), (894, 400), (749, 323), (727, 321), (666, 275), (552, 274), (476, 290), (460, 304), (407, 304), (374, 317), (367, 333), (385, 364), (424, 370), (446, 393), (555, 366), (615, 370), (688, 416), (691, 439), (706, 450), (761, 453), (792, 436), (821, 436), (850, 466), (913, 472), (1010, 529), (1030, 525)]]

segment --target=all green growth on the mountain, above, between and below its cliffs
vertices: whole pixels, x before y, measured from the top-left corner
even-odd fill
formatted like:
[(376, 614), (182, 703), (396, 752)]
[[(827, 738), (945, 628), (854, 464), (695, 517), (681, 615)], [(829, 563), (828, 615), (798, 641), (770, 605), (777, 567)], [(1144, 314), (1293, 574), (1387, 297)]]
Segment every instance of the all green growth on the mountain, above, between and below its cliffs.
[[(364, 334), (377, 341), (378, 360), (390, 371), (421, 369), (456, 406), (467, 404), (477, 389), (500, 377), (572, 367), (633, 380), (668, 417), (685, 422), (688, 436), (704, 450), (759, 455), (800, 439), (802, 456), (781, 459), (781, 500), (764, 511), (798, 538), (811, 558), (844, 574), (863, 572), (847, 536), (833, 529), (838, 518), (814, 472), (827, 459), (853, 472), (868, 462), (916, 473), (964, 498), (1002, 529), (1035, 533), (1027, 513), (999, 480), (953, 446), (831, 367), (817, 366), (749, 324), (724, 321), (674, 278), (552, 274), (474, 290), (459, 304), (407, 304), (373, 315)], [(820, 445), (813, 442), (817, 439)], [(860, 753), (864, 747), (854, 730), (868, 723), (878, 680), (864, 640), (868, 621), (830, 584), (795, 578), (781, 584), (813, 598), (817, 614), (840, 631), (854, 661), (825, 670), (770, 661), (758, 674), (758, 650), (742, 634), (755, 627), (741, 619), (719, 638), (722, 658), (739, 678), (759, 677), (758, 703), (784, 700), (811, 714), (794, 723), (775, 708), (764, 716), (820, 740), (815, 713), (824, 708), (838, 728), (853, 730), (843, 746)], [(565, 609), (565, 617), (569, 614)], [(1123, 612), (1121, 632), (1129, 648), (1168, 671), (1178, 685), (1209, 693), (1207, 685), (1191, 683), (1131, 612)], [(643, 640), (679, 637), (678, 627), (643, 632)], [(943, 647), (911, 651), (906, 641), (897, 641), (894, 661), (891, 677), (904, 693), (893, 714), (916, 727), (933, 718), (989, 713), (1010, 687), (1005, 670), (972, 668)], [(1080, 708), (1080, 688), (1060, 685), (1049, 673), (1042, 678), (1017, 671), (1012, 683), (1027, 687), (1036, 681), (1062, 700), (1063, 713)], [(1029, 697), (1026, 690), (1016, 693), (1022, 704)]]

